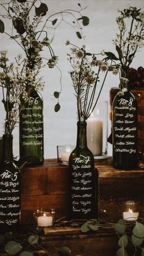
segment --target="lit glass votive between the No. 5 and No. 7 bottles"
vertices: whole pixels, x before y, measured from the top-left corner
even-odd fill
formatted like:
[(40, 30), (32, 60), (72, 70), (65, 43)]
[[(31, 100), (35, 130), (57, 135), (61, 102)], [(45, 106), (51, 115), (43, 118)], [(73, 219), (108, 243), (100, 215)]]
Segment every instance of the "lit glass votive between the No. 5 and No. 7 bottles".
[(34, 212), (35, 223), (38, 227), (52, 227), (54, 225), (53, 210), (45, 211), (43, 208), (37, 209)]

